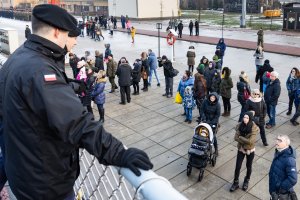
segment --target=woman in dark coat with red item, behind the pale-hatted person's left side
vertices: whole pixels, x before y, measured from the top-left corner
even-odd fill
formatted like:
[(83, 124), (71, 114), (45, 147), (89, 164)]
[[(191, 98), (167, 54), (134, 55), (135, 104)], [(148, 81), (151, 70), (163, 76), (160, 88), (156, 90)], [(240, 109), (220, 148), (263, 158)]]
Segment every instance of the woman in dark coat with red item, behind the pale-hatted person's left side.
[[(244, 71), (241, 72), (239, 78), (240, 78), (240, 81), (237, 82), (236, 87), (238, 90), (237, 99), (242, 106), (240, 118), (239, 118), (239, 122), (241, 122), (244, 117), (244, 113), (245, 113), (246, 101), (250, 97), (250, 94), (251, 94), (251, 89), (250, 89), (250, 85), (248, 83), (249, 82), (248, 76)], [(245, 96), (246, 92), (249, 95), (248, 97)]]

